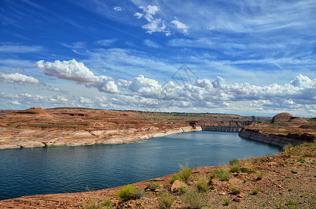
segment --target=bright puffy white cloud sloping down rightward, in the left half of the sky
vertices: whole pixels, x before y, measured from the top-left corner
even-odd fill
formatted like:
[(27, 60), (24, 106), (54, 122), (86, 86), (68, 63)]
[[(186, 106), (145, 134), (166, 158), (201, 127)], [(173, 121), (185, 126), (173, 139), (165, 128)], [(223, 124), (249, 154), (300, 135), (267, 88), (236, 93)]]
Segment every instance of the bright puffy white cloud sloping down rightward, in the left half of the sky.
[(62, 62), (57, 60), (54, 63), (44, 63), (41, 60), (36, 62), (34, 66), (40, 68), (48, 76), (71, 80), (77, 82), (77, 84), (84, 84), (86, 87), (94, 87), (100, 92), (119, 93), (112, 77), (96, 76), (89, 68), (84, 66), (84, 63), (78, 63), (75, 59)]

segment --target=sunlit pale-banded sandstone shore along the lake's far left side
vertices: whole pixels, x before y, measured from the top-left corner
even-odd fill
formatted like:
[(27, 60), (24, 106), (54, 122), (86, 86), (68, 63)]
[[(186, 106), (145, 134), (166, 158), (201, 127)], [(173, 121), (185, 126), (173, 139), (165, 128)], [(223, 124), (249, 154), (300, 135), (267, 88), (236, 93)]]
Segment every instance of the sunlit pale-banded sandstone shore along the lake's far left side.
[[(0, 127), (0, 131), (3, 128)], [(175, 127), (171, 129), (129, 128), (125, 130), (20, 130), (20, 132), (1, 137), (1, 149), (31, 148), (43, 146), (80, 146), (91, 144), (122, 144), (133, 143), (142, 139), (163, 137), (181, 132), (201, 130), (193, 127)]]

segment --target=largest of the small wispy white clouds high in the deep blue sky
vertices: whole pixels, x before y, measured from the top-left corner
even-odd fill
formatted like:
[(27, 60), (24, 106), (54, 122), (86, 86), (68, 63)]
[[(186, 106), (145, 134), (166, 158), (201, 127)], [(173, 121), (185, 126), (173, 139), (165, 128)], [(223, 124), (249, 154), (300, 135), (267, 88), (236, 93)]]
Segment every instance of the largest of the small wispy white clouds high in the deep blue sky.
[(135, 13), (134, 16), (137, 19), (144, 17), (144, 19), (148, 22), (148, 24), (142, 26), (142, 28), (146, 30), (146, 33), (151, 34), (154, 32), (164, 32), (166, 36), (171, 35), (170, 30), (167, 29), (167, 26), (165, 25), (165, 21), (154, 17), (159, 11), (158, 6), (140, 6), (140, 9), (142, 9), (143, 12)]

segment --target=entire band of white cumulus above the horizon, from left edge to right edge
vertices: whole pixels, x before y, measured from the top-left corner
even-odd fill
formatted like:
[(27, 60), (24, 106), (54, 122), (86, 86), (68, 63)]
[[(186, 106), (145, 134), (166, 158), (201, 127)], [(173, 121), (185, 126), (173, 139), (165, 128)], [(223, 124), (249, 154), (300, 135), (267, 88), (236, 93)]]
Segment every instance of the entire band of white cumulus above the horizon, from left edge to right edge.
[[(57, 79), (67, 79), (86, 88), (96, 88), (100, 96), (40, 96), (29, 93), (1, 93), (0, 98), (12, 100), (11, 104), (46, 104), (61, 106), (107, 107), (119, 109), (141, 109), (146, 111), (179, 111), (193, 109), (226, 109), (234, 111), (247, 105), (251, 111), (296, 111), (305, 109), (306, 114), (316, 114), (316, 78), (310, 79), (297, 75), (286, 84), (256, 86), (248, 83), (227, 84), (223, 77), (210, 79), (188, 79), (179, 81), (179, 77), (161, 84), (156, 79), (139, 75), (131, 80), (119, 79), (104, 75), (96, 76), (84, 63), (75, 59), (70, 61), (44, 62), (34, 64), (45, 75)], [(183, 72), (177, 72), (179, 75)], [(2, 82), (40, 84), (38, 79), (17, 74), (0, 74)], [(11, 79), (10, 79), (11, 78)], [(177, 80), (178, 79), (178, 80)], [(52, 88), (53, 89), (53, 88)], [(60, 91), (60, 89), (59, 89)], [(245, 107), (245, 108), (247, 108)]]

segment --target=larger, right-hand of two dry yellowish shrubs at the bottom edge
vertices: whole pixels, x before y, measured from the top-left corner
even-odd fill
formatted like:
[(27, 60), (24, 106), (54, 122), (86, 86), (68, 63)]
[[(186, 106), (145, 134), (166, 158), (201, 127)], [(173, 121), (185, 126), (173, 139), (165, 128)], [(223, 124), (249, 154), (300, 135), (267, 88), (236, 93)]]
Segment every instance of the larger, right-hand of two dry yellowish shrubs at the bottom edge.
[(190, 208), (202, 208), (205, 194), (203, 192), (197, 192), (195, 189), (190, 189), (186, 194), (181, 196), (181, 201), (190, 206)]

